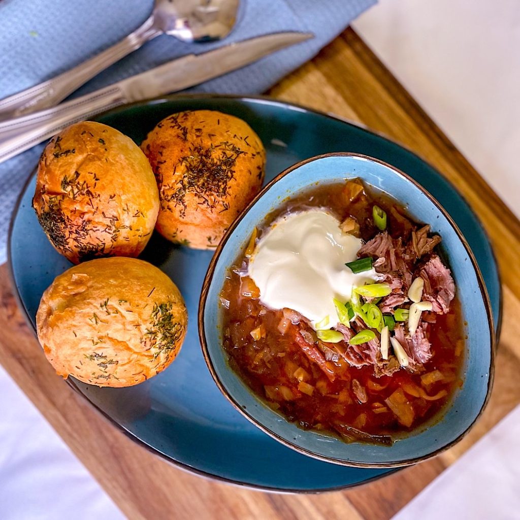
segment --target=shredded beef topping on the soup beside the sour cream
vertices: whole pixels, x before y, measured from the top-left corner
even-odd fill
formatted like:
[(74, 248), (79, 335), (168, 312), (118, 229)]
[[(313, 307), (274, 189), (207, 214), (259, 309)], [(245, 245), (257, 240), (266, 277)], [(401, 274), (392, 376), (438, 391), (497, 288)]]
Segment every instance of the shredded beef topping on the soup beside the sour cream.
[[(430, 226), (426, 225), (417, 229), (397, 210), (391, 210), (391, 215), (392, 235), (386, 231), (378, 233), (361, 247), (358, 257), (371, 256), (374, 259), (373, 267), (378, 272), (377, 281), (387, 283), (392, 290), (378, 303), (383, 313), (393, 313), (396, 307), (408, 302), (408, 289), (413, 278), (420, 276), (424, 280), (422, 298), (432, 302), (432, 311), (423, 312), (419, 326), (412, 336), (409, 335), (405, 323), (397, 324), (394, 329), (397, 341), (402, 345), (409, 358), (407, 370), (420, 372), (424, 370), (424, 363), (432, 357), (431, 344), (428, 341), (428, 327), (430, 327), (430, 323), (436, 322), (436, 314), (448, 312), (455, 293), (455, 285), (449, 269), (433, 253), (434, 248), (440, 242), (440, 237), (428, 237)], [(374, 299), (366, 298), (366, 301), (371, 302)], [(298, 318), (300, 317), (298, 316)], [(295, 320), (291, 321), (294, 323)], [(341, 332), (344, 338), (339, 343), (323, 345), (318, 342), (318, 347), (300, 341), (298, 344), (331, 381), (334, 375), (331, 373), (332, 366), (328, 362), (336, 361), (340, 356), (353, 367), (372, 365), (374, 374), (378, 378), (382, 375), (392, 375), (401, 367), (393, 355), (389, 356), (387, 360), (382, 359), (379, 335), (361, 345), (350, 344), (353, 335), (366, 328), (366, 324), (357, 316), (350, 323), (350, 328), (343, 324), (336, 326), (336, 330)], [(300, 340), (303, 338), (300, 337)], [(359, 392), (361, 393), (360, 390)]]

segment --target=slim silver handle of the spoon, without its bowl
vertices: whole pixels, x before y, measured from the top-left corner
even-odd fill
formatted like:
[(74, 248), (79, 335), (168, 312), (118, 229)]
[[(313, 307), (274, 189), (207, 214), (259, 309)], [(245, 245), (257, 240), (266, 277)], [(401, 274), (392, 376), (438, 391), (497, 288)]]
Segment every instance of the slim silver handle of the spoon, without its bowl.
[(90, 78), (159, 34), (161, 31), (154, 27), (152, 15), (133, 33), (93, 58), (51, 80), (0, 100), (0, 121), (54, 107)]

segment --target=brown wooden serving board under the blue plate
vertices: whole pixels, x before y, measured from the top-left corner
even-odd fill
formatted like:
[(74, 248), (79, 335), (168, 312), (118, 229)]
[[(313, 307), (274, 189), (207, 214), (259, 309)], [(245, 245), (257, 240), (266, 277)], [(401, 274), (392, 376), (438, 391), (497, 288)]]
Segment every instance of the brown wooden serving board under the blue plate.
[[(482, 419), (441, 456), (352, 490), (276, 495), (185, 473), (136, 445), (87, 405), (45, 360), (0, 267), (0, 362), (77, 457), (132, 519), (384, 520), (520, 402), (520, 222), (354, 31), (348, 29), (267, 94), (333, 112), (404, 144), (463, 193), (495, 248), (503, 327), (495, 387)], [(34, 433), (37, 435), (37, 432)]]

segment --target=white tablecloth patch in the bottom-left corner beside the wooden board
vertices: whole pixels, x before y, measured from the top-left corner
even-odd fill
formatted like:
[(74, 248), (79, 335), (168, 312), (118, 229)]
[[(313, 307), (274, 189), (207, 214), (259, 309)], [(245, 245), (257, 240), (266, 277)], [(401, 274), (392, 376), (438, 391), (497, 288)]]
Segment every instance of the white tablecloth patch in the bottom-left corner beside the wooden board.
[(61, 518), (125, 517), (0, 366), (0, 519)]

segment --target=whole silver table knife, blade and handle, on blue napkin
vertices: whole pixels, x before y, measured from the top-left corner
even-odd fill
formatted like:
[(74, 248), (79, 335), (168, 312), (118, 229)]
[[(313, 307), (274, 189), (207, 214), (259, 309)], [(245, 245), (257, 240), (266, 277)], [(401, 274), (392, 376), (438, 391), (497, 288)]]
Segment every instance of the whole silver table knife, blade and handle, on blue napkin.
[(77, 121), (124, 103), (178, 92), (251, 64), (311, 33), (283, 32), (250, 38), (199, 55), (190, 54), (131, 76), (57, 107), (0, 122), (0, 163)]

